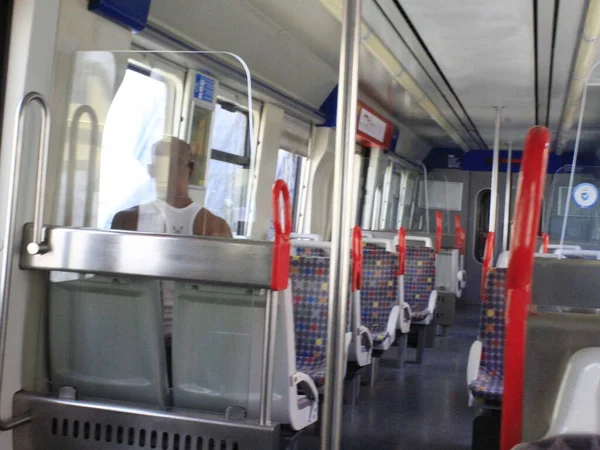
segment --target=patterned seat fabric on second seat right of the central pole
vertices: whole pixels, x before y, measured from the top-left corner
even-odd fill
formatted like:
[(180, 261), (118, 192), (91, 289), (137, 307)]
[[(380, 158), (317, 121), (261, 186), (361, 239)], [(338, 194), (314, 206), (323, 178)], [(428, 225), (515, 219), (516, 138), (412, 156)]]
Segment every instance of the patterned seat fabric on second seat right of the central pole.
[(404, 301), (410, 306), (413, 323), (426, 320), (433, 313), (427, 307), (434, 285), (435, 250), (429, 247), (407, 247)]

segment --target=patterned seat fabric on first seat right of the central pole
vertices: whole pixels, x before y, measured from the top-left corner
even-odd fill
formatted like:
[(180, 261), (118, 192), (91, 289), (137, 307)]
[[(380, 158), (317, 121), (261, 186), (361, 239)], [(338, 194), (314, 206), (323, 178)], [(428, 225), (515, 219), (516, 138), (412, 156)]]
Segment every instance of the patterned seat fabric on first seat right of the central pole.
[(398, 304), (397, 266), (398, 256), (393, 253), (381, 248), (363, 251), (361, 323), (371, 332), (375, 348), (390, 337), (388, 319), (392, 308)]

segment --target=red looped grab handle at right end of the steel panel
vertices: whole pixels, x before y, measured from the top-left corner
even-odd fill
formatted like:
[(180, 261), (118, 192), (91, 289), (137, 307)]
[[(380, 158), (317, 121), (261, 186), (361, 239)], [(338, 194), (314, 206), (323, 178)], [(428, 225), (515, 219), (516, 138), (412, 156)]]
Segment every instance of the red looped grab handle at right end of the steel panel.
[[(281, 198), (283, 197), (283, 205)], [(271, 268), (271, 289), (284, 291), (288, 286), (290, 274), (290, 234), (292, 233), (292, 206), (290, 191), (283, 180), (275, 181), (273, 185), (273, 226), (275, 228), (275, 243), (273, 245), (273, 263)], [(283, 208), (284, 224), (281, 224), (281, 209)]]

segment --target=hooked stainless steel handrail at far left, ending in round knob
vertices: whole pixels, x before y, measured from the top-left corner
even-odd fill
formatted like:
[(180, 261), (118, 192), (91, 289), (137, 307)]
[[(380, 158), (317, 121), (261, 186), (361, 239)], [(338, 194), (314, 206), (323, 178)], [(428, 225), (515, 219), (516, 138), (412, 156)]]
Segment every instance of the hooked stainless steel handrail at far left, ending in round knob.
[(38, 146), (38, 166), (35, 186), (35, 209), (33, 212), (33, 241), (27, 244), (27, 252), (31, 255), (45, 253), (48, 249), (44, 244), (44, 209), (46, 202), (44, 190), (46, 187), (46, 173), (48, 167), (48, 150), (50, 148), (50, 108), (46, 99), (37, 92), (27, 94), (19, 108), (19, 121), (17, 130), (17, 152), (21, 152), (23, 146), (23, 123), (25, 121), (26, 106), (36, 102), (42, 111), (42, 126), (40, 131), (40, 142)]

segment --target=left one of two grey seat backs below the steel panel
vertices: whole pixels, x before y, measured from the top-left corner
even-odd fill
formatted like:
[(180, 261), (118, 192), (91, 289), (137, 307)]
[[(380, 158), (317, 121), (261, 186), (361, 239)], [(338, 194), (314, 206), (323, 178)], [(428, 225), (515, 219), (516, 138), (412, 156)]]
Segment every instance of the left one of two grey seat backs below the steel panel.
[(159, 282), (91, 277), (50, 283), (50, 372), (56, 392), (165, 406)]

